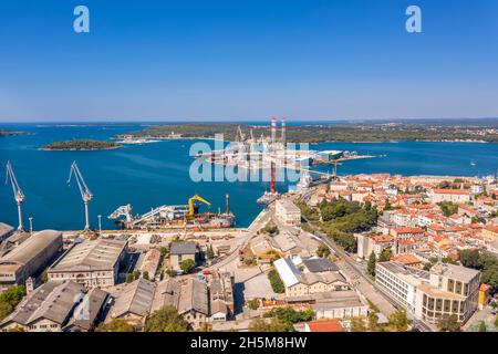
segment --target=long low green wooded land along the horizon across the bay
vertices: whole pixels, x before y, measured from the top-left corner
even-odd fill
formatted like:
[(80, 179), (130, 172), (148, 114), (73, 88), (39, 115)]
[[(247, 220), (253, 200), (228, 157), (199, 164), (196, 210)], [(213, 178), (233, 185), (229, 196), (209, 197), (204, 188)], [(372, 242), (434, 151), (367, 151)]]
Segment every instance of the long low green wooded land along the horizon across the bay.
[[(267, 134), (268, 125), (234, 123), (197, 123), (152, 125), (127, 135), (142, 138), (166, 138), (172, 132), (181, 138), (214, 138), (224, 134), (225, 140), (238, 138), (238, 127), (246, 136), (250, 131), (255, 137)], [(118, 138), (118, 137), (114, 137)], [(443, 125), (437, 123), (357, 123), (289, 125), (287, 140), (291, 143), (325, 142), (479, 142), (498, 143), (498, 128), (495, 122), (487, 125)]]

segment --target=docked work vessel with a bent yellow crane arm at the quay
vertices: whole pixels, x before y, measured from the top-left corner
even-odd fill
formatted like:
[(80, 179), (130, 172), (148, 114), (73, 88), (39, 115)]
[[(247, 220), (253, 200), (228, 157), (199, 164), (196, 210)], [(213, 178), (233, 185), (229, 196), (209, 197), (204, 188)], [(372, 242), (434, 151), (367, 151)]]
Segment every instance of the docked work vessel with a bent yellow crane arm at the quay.
[(116, 220), (123, 229), (216, 229), (230, 228), (235, 225), (235, 216), (230, 212), (229, 196), (226, 196), (225, 212), (199, 212), (201, 204), (211, 206), (203, 197), (195, 195), (188, 199), (188, 205), (165, 205), (152, 209), (144, 215), (132, 214), (133, 207), (128, 204), (118, 207), (108, 216)]

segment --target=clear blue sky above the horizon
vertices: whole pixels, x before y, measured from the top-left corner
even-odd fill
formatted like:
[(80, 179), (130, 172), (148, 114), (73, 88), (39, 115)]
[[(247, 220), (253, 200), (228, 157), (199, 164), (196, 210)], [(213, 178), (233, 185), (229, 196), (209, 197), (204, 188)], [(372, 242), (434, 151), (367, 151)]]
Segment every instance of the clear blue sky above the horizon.
[(496, 0), (2, 0), (0, 45), (0, 122), (498, 117)]

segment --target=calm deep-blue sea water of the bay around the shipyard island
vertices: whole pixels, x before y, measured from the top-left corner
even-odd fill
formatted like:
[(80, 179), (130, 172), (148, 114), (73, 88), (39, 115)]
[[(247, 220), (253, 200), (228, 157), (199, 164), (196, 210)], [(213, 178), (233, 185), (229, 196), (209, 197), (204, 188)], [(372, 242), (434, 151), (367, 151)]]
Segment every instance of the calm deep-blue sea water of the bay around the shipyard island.
[[(86, 184), (94, 194), (91, 222), (113, 228), (106, 219), (117, 206), (132, 204), (143, 214), (165, 204), (186, 204), (199, 194), (212, 204), (211, 210), (225, 208), (225, 194), (238, 226), (248, 226), (259, 212), (256, 199), (269, 188), (264, 183), (193, 183), (189, 178), (191, 140), (169, 140), (128, 145), (103, 152), (40, 152), (53, 140), (71, 138), (106, 139), (112, 135), (139, 129), (139, 125), (3, 125), (31, 135), (0, 138), (0, 170), (11, 160), (27, 200), (24, 223), (33, 216), (35, 229), (79, 229), (84, 226), (83, 204), (75, 184), (66, 185), (70, 165), (77, 160)], [(317, 144), (313, 149), (347, 149), (359, 154), (387, 155), (382, 158), (350, 162), (340, 174), (391, 173), (402, 175), (477, 176), (498, 168), (498, 145), (470, 143), (383, 143)], [(470, 160), (476, 163), (470, 166)], [(326, 168), (320, 166), (320, 169)], [(286, 190), (286, 186), (278, 186)], [(17, 225), (17, 209), (10, 186), (0, 184), (0, 220)]]

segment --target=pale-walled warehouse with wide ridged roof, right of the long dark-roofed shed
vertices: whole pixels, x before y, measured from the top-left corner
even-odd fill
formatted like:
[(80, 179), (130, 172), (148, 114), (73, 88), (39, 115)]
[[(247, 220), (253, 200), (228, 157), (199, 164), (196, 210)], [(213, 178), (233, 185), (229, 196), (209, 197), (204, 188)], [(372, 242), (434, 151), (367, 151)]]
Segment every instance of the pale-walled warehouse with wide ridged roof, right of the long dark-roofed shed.
[(126, 241), (96, 239), (73, 246), (48, 270), (49, 280), (75, 281), (87, 288), (116, 283)]

